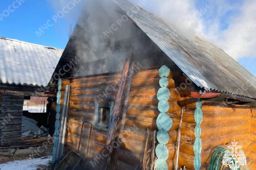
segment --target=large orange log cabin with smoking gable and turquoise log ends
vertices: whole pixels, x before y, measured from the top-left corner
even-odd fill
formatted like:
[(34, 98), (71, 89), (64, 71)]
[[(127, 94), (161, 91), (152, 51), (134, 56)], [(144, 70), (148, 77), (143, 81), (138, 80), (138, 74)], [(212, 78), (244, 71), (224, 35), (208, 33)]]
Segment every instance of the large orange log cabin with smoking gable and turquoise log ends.
[(92, 170), (206, 170), (235, 140), (256, 168), (256, 77), (140, 6), (93, 0), (82, 13), (49, 82), (59, 114), (70, 85), (66, 151)]

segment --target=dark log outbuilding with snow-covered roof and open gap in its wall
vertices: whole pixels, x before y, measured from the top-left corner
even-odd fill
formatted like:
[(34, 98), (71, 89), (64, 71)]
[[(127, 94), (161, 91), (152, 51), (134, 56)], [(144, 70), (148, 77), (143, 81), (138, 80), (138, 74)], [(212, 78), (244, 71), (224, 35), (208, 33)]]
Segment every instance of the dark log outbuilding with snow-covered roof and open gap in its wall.
[(3, 37), (0, 47), (0, 149), (40, 146), (47, 137), (22, 138), (24, 99), (54, 97), (43, 92), (63, 50)]

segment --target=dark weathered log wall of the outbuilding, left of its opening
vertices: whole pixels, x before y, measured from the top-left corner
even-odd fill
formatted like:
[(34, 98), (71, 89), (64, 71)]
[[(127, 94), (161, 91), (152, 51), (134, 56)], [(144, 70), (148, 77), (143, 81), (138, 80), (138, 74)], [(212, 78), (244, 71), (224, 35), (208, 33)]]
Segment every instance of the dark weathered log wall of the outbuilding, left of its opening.
[(21, 122), (24, 96), (16, 93), (0, 95), (0, 148), (9, 148), (21, 142)]

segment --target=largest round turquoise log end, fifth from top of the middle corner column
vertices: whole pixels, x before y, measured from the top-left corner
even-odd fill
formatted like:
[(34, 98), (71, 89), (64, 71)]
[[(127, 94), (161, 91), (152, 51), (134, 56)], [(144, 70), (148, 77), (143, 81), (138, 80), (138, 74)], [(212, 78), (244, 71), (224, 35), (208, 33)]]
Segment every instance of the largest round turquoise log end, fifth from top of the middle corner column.
[(156, 126), (158, 130), (164, 129), (169, 131), (172, 127), (172, 118), (165, 113), (160, 113), (156, 119)]

